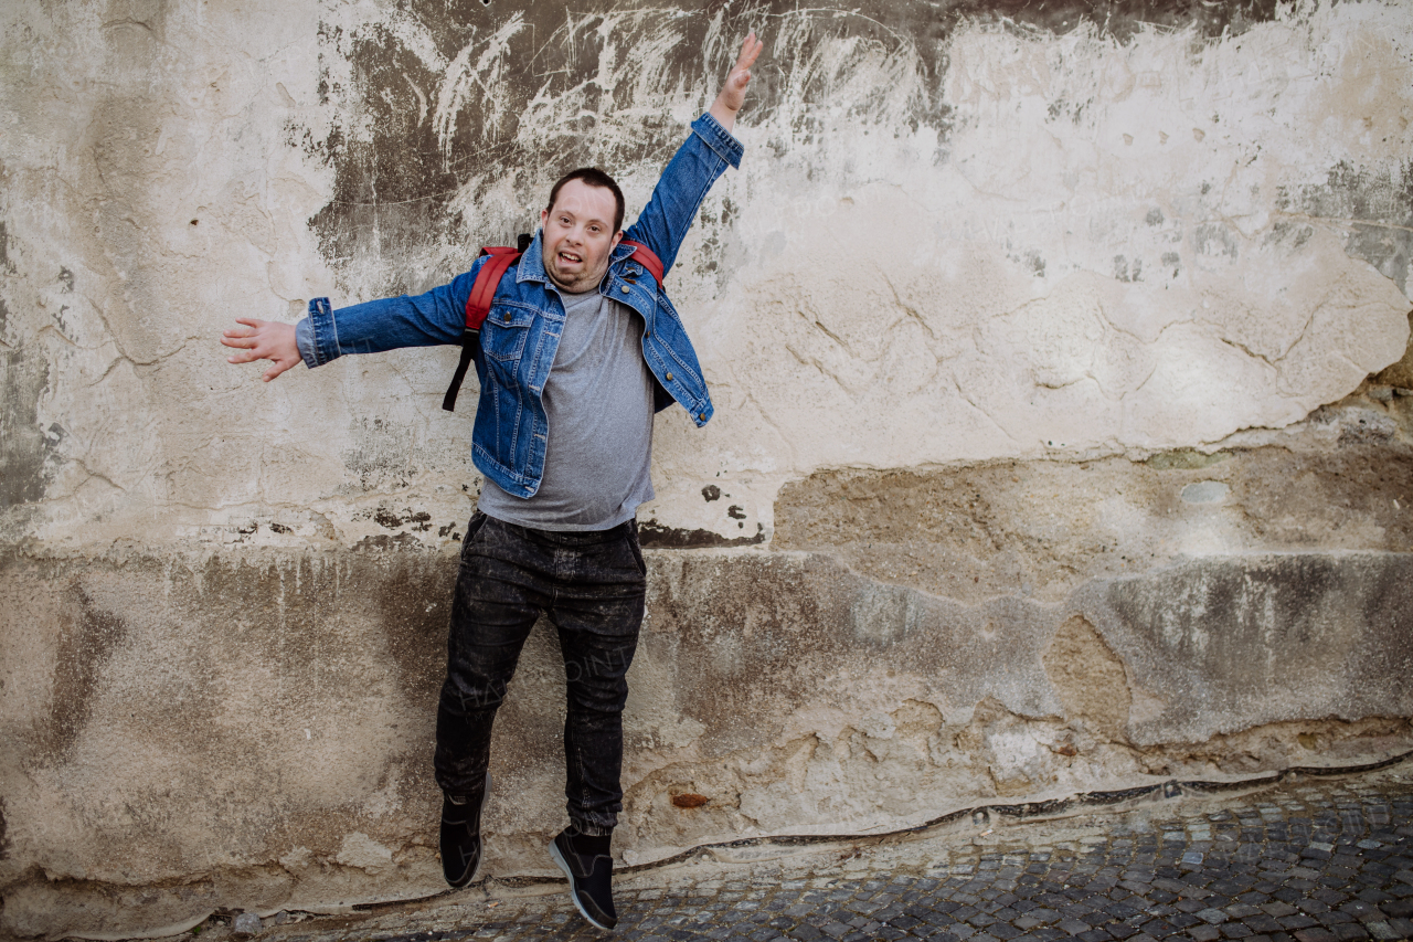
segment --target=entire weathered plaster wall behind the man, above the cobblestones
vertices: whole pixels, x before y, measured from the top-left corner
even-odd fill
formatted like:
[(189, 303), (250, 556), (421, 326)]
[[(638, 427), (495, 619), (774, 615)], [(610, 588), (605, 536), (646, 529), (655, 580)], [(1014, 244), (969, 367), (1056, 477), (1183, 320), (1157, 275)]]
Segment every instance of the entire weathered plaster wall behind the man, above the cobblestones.
[[(747, 28), (668, 277), (718, 414), (657, 420), (623, 861), (1410, 745), (1407, 4), (34, 0), (6, 931), (439, 888), (455, 352), (267, 386), (215, 338), (437, 284), (574, 165), (632, 212)], [(537, 636), (497, 726), (495, 876), (548, 871), (560, 672)]]

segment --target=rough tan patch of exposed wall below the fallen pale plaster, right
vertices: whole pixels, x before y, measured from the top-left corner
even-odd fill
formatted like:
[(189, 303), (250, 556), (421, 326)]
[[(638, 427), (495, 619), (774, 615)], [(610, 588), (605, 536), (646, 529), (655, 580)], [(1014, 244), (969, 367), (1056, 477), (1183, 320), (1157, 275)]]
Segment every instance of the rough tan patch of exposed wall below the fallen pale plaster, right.
[(1146, 461), (818, 472), (771, 547), (947, 598), (1056, 601), (1084, 580), (1207, 554), (1413, 552), (1413, 399), (1356, 399), (1256, 446)]

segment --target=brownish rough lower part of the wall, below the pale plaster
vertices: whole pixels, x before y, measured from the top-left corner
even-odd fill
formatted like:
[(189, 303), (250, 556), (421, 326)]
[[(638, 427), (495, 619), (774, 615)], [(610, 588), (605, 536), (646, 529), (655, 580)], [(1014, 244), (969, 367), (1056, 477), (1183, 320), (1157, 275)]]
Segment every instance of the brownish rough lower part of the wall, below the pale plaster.
[[(771, 549), (650, 550), (622, 863), (1413, 747), (1413, 463), (1402, 406), (1359, 431), (1375, 406), (1214, 455), (822, 474)], [(417, 547), (11, 546), (4, 929), (441, 891), (456, 557)], [(541, 625), (497, 720), (496, 877), (552, 873), (562, 676)]]

